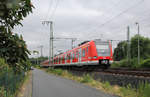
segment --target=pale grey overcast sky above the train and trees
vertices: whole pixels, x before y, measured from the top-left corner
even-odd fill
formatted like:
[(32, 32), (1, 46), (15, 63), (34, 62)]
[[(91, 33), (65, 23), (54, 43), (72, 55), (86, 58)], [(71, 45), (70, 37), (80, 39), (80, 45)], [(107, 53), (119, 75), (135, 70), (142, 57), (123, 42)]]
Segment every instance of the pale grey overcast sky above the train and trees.
[[(77, 45), (84, 40), (126, 40), (127, 26), (131, 36), (140, 34), (150, 38), (150, 0), (32, 0), (35, 9), (17, 26), (14, 32), (22, 34), (29, 50), (43, 45), (43, 55), (48, 56), (48, 25), (54, 22), (54, 37), (77, 38)], [(113, 42), (115, 46), (117, 42)], [(71, 40), (54, 41), (55, 53), (71, 48)], [(33, 56), (33, 55), (32, 55)], [(31, 57), (32, 57), (31, 56)]]

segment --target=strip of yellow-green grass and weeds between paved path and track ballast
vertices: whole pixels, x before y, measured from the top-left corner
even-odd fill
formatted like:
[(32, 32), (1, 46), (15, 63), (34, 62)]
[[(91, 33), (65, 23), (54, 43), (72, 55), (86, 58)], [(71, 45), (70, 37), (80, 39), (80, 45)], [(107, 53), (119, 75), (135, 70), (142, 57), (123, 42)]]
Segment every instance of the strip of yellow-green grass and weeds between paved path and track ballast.
[(98, 90), (104, 91), (106, 93), (118, 95), (121, 97), (150, 97), (150, 84), (141, 84), (138, 89), (131, 88), (131, 85), (127, 87), (120, 87), (117, 85), (110, 85), (109, 82), (99, 82), (94, 80), (90, 75), (84, 75), (83, 77), (74, 76), (70, 72), (61, 69), (46, 69), (47, 72), (63, 76), (65, 78), (75, 80), (80, 83), (84, 83)]

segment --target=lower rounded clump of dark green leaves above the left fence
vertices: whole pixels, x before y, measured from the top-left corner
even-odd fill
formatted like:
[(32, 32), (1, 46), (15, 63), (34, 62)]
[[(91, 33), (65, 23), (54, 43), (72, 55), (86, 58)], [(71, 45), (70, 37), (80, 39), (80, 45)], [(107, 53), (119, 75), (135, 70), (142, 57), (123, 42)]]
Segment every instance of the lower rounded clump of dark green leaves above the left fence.
[[(29, 51), (22, 36), (0, 33), (0, 57), (5, 58), (14, 70), (27, 69)], [(21, 64), (21, 65), (20, 65)]]

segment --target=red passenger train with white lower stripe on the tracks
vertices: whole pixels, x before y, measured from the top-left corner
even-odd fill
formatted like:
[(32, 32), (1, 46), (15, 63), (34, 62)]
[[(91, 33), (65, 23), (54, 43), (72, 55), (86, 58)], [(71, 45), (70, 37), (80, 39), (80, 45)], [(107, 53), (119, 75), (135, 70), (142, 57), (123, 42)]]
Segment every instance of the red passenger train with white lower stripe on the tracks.
[[(52, 64), (53, 62), (53, 64)], [(80, 44), (78, 47), (59, 54), (49, 61), (42, 62), (42, 66), (83, 66), (103, 65), (109, 67), (113, 62), (112, 45), (110, 41), (92, 40)]]

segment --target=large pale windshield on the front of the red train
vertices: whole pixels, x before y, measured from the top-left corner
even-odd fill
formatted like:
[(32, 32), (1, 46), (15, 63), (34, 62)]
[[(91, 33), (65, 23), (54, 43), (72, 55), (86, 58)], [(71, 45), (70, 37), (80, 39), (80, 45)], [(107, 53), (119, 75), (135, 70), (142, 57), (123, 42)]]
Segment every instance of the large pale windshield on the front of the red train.
[(110, 56), (109, 42), (95, 42), (98, 56)]

